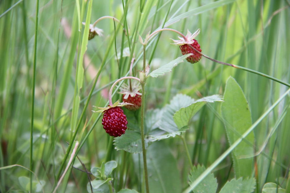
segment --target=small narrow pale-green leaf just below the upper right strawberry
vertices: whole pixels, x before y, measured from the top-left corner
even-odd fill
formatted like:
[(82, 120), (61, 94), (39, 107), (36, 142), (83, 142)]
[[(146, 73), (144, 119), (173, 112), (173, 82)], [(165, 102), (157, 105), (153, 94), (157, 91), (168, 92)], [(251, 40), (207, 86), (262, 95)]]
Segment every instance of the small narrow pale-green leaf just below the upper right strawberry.
[(149, 76), (151, 77), (158, 77), (158, 76), (162, 76), (164, 75), (166, 72), (171, 72), (171, 70), (177, 66), (179, 63), (182, 63), (183, 60), (185, 58), (187, 58), (188, 56), (190, 56), (191, 54), (186, 54), (186, 55), (183, 55), (183, 56), (180, 56), (178, 58), (176, 58), (175, 60), (172, 60), (170, 63), (164, 65), (164, 66), (161, 66), (160, 68), (152, 71)]

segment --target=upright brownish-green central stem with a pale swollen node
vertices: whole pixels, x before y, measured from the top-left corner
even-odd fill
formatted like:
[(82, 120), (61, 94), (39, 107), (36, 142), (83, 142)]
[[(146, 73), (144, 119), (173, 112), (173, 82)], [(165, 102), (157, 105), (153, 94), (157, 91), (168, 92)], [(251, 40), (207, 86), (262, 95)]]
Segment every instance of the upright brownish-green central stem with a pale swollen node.
[(144, 115), (145, 115), (145, 83), (146, 83), (146, 44), (143, 45), (143, 72), (140, 72), (140, 83), (142, 87), (142, 101), (141, 101), (141, 143), (142, 143), (142, 153), (143, 153), (143, 165), (144, 165), (144, 176), (145, 176), (145, 186), (146, 193), (149, 193), (149, 183), (148, 183), (148, 172), (147, 172), (147, 161), (146, 161), (146, 148), (145, 148), (145, 136), (144, 136)]

